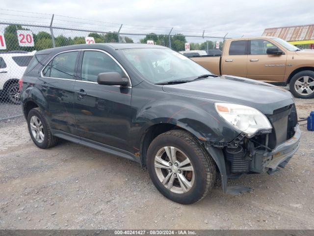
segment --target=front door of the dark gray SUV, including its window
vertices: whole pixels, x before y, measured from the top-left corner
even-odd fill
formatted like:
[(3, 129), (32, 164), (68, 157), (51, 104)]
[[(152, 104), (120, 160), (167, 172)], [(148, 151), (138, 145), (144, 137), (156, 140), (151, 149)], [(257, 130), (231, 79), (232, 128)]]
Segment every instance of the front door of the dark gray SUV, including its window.
[[(75, 82), (74, 110), (77, 135), (114, 148), (131, 150), (131, 87), (97, 83), (104, 72), (127, 76), (121, 65), (104, 51), (82, 51)], [(80, 76), (79, 76), (80, 75)], [(131, 85), (131, 83), (130, 83)]]

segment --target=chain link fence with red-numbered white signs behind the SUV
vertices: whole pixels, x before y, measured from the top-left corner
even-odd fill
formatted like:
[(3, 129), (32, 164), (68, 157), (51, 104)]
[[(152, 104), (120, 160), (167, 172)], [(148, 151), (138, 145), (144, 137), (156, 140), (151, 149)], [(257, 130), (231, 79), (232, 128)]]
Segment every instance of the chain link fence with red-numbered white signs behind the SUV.
[(46, 26), (0, 22), (0, 120), (23, 115), (19, 80), (36, 51), (74, 44), (151, 43), (177, 52), (186, 49), (206, 52), (222, 49), (226, 36), (204, 36), (204, 31), (202, 35), (184, 35), (172, 29), (167, 34), (133, 33), (130, 27), (126, 26), (124, 31), (121, 28), (122, 25), (115, 31), (102, 31), (86, 26), (84, 29), (52, 26), (52, 21)]

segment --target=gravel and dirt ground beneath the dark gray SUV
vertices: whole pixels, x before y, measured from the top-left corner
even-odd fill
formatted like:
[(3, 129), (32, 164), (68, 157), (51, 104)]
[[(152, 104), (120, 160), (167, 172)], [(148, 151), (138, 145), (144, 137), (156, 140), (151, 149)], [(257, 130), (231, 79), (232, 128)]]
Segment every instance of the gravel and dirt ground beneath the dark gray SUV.
[[(298, 116), (314, 99), (296, 99)], [(0, 229), (314, 229), (314, 132), (274, 176), (245, 175), (253, 193), (201, 202), (164, 198), (137, 163), (62, 141), (42, 150), (24, 118), (0, 122)]]

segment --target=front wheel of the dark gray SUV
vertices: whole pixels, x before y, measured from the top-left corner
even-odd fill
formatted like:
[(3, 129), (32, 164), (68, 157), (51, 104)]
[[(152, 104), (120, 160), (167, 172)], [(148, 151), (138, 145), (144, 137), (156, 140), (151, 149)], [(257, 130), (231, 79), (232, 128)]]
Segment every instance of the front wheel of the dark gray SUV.
[(147, 151), (147, 168), (159, 192), (180, 204), (200, 201), (216, 179), (213, 159), (183, 130), (171, 130), (153, 140)]

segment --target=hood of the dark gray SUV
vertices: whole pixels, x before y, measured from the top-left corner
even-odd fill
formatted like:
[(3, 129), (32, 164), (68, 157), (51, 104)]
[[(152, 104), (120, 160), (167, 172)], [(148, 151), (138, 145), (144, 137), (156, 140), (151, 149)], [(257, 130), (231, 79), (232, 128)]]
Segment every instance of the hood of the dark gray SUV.
[(236, 76), (209, 77), (184, 84), (165, 85), (162, 89), (212, 102), (250, 106), (264, 114), (272, 114), (274, 110), (294, 103), (291, 93), (286, 89)]

